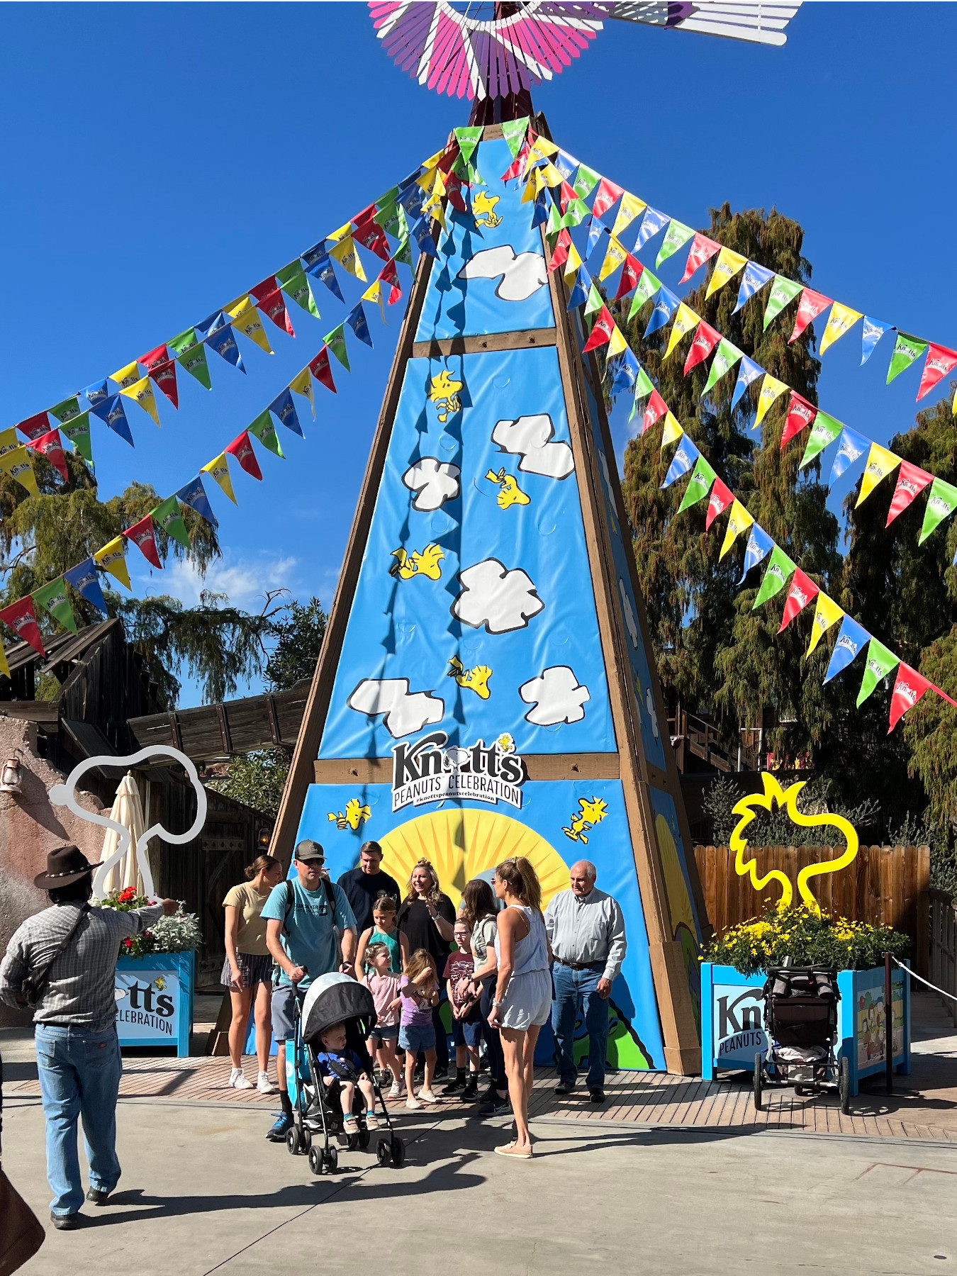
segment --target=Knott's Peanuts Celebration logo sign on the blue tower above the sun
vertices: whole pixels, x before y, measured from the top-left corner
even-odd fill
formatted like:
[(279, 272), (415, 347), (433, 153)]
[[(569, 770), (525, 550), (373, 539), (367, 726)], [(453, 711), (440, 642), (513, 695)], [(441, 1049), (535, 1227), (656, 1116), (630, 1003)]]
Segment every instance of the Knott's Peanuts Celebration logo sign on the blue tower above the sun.
[(392, 809), (412, 804), (470, 798), (498, 805), (508, 803), (522, 809), (522, 785), (528, 772), (522, 758), (512, 752), (512, 738), (499, 736), (468, 748), (449, 744), (444, 731), (426, 735), (417, 744), (396, 744), (392, 749)]

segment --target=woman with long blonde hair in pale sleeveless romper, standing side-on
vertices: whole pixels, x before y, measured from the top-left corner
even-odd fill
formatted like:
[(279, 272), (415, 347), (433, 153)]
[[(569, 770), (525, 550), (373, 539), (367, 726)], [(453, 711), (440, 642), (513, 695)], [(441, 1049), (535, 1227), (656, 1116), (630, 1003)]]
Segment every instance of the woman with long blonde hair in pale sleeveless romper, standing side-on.
[(551, 1014), (551, 953), (541, 915), (541, 886), (528, 860), (521, 855), (503, 860), (495, 869), (493, 886), (505, 907), (498, 917), (499, 975), (489, 1023), (499, 1028), (501, 1036), (516, 1118), (514, 1139), (495, 1151), (499, 1156), (527, 1161), (532, 1155), (528, 1095), (535, 1082), (535, 1042)]

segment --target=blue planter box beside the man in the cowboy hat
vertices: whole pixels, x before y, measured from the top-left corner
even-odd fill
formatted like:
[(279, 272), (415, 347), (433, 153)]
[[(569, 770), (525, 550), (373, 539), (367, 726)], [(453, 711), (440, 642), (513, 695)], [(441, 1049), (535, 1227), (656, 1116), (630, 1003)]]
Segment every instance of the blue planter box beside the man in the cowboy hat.
[(116, 962), (116, 1031), (120, 1045), (175, 1046), (189, 1054), (197, 954), (148, 953)]

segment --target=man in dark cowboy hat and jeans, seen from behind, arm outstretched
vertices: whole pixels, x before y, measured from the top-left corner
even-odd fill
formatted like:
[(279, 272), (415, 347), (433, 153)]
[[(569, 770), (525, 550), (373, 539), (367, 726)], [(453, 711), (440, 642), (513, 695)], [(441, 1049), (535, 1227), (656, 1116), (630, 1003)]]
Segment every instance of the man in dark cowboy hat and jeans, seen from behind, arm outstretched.
[(27, 917), (0, 965), (0, 999), (34, 1011), (46, 1175), (54, 1192), (50, 1217), (60, 1231), (78, 1226), (83, 1205), (78, 1118), (89, 1162), (87, 1201), (106, 1205), (120, 1178), (116, 1096), (122, 1064), (114, 995), (120, 943), (179, 907), (176, 900), (131, 912), (91, 907), (97, 868), (75, 846), (51, 851), (46, 873), (33, 884), (47, 892), (52, 907)]

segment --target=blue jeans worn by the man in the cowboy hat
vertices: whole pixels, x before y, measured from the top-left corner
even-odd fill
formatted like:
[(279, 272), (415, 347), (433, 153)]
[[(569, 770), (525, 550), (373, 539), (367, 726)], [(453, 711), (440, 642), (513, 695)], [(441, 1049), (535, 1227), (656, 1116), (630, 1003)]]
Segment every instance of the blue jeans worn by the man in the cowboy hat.
[(77, 1213), (83, 1184), (77, 1150), (77, 1120), (89, 1162), (89, 1185), (112, 1192), (120, 1178), (116, 1160), (116, 1096), (120, 1091), (120, 1042), (116, 1028), (37, 1025), (37, 1072), (46, 1116), (46, 1176), (54, 1192), (52, 1213)]

